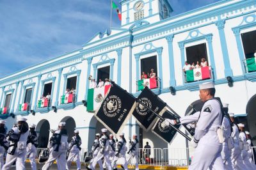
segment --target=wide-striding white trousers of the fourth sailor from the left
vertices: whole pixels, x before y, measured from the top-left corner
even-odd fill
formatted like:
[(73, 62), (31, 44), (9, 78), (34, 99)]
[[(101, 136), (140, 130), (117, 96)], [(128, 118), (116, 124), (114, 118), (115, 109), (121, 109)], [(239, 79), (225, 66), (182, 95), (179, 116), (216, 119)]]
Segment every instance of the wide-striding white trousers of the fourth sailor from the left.
[(42, 167), (42, 170), (49, 170), (54, 160), (57, 161), (58, 170), (66, 169), (66, 155), (67, 150), (54, 151), (52, 148), (49, 152), (49, 158), (45, 165)]

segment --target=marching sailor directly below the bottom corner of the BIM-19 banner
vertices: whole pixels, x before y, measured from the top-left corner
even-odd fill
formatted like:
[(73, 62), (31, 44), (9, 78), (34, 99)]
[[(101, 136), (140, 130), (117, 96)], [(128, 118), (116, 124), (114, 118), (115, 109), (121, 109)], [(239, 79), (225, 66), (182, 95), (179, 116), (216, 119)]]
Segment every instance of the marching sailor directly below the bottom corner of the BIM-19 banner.
[(128, 163), (125, 157), (125, 153), (127, 151), (126, 145), (126, 140), (124, 138), (124, 133), (121, 133), (120, 138), (118, 139), (116, 143), (116, 148), (115, 148), (115, 157), (112, 162), (112, 166), (114, 166), (117, 162), (117, 160), (120, 161), (120, 164), (122, 164), (124, 170), (128, 170)]

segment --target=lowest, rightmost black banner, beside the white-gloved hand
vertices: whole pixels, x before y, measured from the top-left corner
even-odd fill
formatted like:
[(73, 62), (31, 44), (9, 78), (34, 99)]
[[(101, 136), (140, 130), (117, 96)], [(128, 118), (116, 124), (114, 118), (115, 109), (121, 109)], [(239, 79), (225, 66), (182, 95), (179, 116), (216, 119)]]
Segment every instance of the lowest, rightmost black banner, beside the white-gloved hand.
[[(175, 116), (169, 111), (165, 111), (162, 117), (164, 119), (170, 119), (170, 120), (176, 119)], [(163, 123), (163, 120), (158, 118), (154, 127), (152, 128), (152, 132), (156, 134), (158, 137), (160, 137), (161, 139), (163, 139), (164, 141), (166, 141), (167, 143), (171, 143), (177, 131), (171, 126), (166, 126), (163, 128), (161, 126), (162, 123)], [(180, 125), (175, 125), (175, 127), (179, 129)]]

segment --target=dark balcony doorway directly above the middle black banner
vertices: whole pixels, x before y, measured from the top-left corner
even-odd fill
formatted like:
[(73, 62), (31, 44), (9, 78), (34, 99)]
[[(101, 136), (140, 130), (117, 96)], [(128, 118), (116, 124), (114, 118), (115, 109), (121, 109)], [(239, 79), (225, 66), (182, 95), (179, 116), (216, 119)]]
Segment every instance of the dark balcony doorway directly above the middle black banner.
[(147, 75), (149, 75), (151, 72), (150, 70), (152, 68), (154, 69), (154, 72), (156, 73), (156, 77), (157, 77), (157, 58), (156, 58), (156, 56), (141, 59), (141, 74), (142, 74), (142, 72), (145, 72)]

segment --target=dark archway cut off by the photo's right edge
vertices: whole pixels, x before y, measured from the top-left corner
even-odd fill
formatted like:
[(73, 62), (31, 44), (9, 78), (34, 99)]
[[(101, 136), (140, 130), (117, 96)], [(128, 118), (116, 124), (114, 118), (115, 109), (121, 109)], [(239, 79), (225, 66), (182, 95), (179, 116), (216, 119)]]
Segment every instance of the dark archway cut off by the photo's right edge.
[[(256, 138), (256, 95), (253, 95), (252, 98), (248, 101), (246, 105), (246, 113), (248, 127), (250, 130), (250, 135), (253, 139)], [(256, 146), (256, 141), (252, 140), (253, 146)]]

